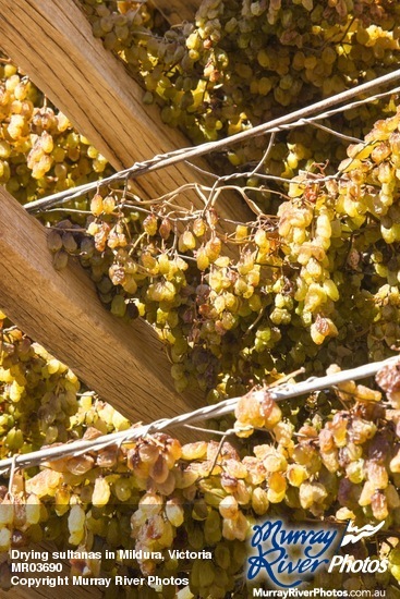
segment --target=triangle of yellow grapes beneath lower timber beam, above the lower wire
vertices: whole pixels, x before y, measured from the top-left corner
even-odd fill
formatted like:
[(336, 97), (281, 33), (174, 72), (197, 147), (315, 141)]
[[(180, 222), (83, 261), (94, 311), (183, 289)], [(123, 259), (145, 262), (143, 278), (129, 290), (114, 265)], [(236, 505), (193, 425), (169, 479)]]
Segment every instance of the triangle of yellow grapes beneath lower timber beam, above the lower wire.
[(0, 311), (0, 457), (80, 439), (86, 428), (106, 435), (129, 421), (92, 393), (72, 370), (33, 342)]

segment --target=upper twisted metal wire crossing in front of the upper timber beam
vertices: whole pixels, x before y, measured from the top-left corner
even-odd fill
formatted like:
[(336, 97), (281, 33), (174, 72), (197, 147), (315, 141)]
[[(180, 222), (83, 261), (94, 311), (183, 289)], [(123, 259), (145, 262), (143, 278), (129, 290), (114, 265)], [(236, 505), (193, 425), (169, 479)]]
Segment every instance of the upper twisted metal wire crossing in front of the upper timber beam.
[(232, 146), (239, 142), (242, 142), (243, 139), (250, 139), (252, 137), (257, 137), (259, 135), (264, 135), (266, 133), (277, 133), (279, 131), (286, 131), (290, 130), (294, 126), (304, 126), (307, 124), (312, 124), (315, 120), (320, 119), (327, 119), (334, 114), (337, 114), (338, 112), (343, 112), (346, 110), (350, 110), (352, 108), (356, 108), (359, 106), (362, 106), (367, 102), (375, 101), (379, 98), (383, 98), (385, 96), (397, 94), (400, 91), (400, 87), (397, 87), (395, 89), (390, 89), (389, 91), (385, 91), (383, 94), (377, 94), (374, 96), (371, 96), (368, 98), (354, 101), (350, 105), (347, 105), (344, 107), (331, 109), (329, 111), (323, 112), (317, 114), (313, 118), (306, 118), (308, 114), (313, 114), (315, 112), (320, 112), (322, 110), (326, 110), (327, 108), (330, 108), (332, 106), (336, 106), (337, 103), (341, 103), (343, 101), (349, 100), (350, 98), (353, 98), (354, 96), (357, 96), (360, 94), (364, 94), (365, 91), (368, 91), (369, 89), (373, 89), (375, 87), (378, 87), (380, 85), (387, 85), (396, 80), (400, 78), (400, 69), (395, 71), (393, 73), (390, 73), (388, 75), (384, 75), (381, 77), (377, 77), (376, 80), (373, 80), (371, 82), (364, 83), (362, 85), (357, 85), (356, 87), (353, 87), (352, 89), (347, 89), (346, 91), (341, 91), (340, 94), (336, 94), (335, 96), (331, 96), (330, 98), (326, 98), (324, 100), (320, 100), (318, 102), (315, 102), (308, 107), (302, 108), (300, 110), (295, 110), (294, 112), (290, 112), (289, 114), (284, 117), (279, 117), (278, 119), (275, 119), (272, 121), (269, 121), (267, 123), (263, 123), (260, 125), (257, 125), (255, 127), (252, 127), (246, 131), (242, 131), (240, 133), (237, 133), (234, 135), (231, 135), (230, 137), (225, 137), (223, 139), (219, 139), (217, 142), (207, 142), (205, 144), (202, 144), (199, 146), (192, 146), (187, 148), (181, 148), (179, 150), (173, 150), (168, 154), (157, 155), (154, 158), (145, 161), (145, 162), (135, 162), (132, 167), (129, 169), (124, 169), (122, 171), (119, 171), (110, 176), (107, 176), (105, 179), (101, 179), (99, 181), (95, 181), (92, 183), (86, 183), (84, 185), (80, 185), (78, 187), (75, 187), (73, 192), (71, 190), (65, 190), (63, 192), (59, 192), (57, 194), (49, 195), (41, 199), (36, 199), (34, 201), (29, 201), (28, 204), (24, 205), (25, 210), (28, 212), (36, 212), (40, 210), (45, 210), (46, 208), (49, 208), (53, 206), (54, 204), (64, 204), (65, 201), (70, 201), (71, 199), (74, 199), (75, 197), (80, 197), (81, 195), (90, 192), (93, 190), (97, 190), (98, 187), (112, 183), (113, 181), (119, 181), (121, 179), (125, 179), (128, 176), (136, 178), (141, 176), (143, 174), (154, 172), (159, 169), (165, 169), (167, 167), (171, 167), (182, 160), (189, 160), (191, 158), (195, 158), (197, 156), (203, 156), (205, 154), (209, 154), (211, 151), (226, 149), (229, 146)]

